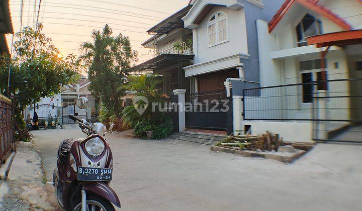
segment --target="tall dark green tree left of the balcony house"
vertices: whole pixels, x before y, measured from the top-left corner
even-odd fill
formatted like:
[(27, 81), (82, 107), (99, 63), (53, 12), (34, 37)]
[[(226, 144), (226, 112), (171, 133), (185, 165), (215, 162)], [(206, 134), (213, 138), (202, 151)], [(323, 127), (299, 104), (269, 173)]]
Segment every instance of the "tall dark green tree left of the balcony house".
[(137, 62), (138, 53), (132, 50), (128, 37), (112, 34), (108, 25), (102, 32), (94, 30), (93, 42), (81, 44), (82, 55), (78, 60), (88, 67), (89, 89), (101, 97), (108, 110), (120, 117), (121, 97), (125, 90), (118, 87), (126, 82), (128, 69)]

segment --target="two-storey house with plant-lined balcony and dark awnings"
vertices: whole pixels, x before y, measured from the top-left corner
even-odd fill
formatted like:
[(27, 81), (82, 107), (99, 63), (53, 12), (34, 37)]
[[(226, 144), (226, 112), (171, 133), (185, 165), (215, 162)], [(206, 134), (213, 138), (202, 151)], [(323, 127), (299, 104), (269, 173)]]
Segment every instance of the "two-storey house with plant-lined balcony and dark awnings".
[[(190, 5), (183, 8), (147, 31), (154, 36), (142, 45), (153, 49), (155, 57), (131, 69), (162, 75), (162, 89), (167, 94), (172, 94), (174, 89), (190, 89), (190, 78), (185, 78), (182, 68), (192, 64), (194, 59), (192, 46), (188, 42), (192, 40), (192, 31), (185, 29), (181, 20), (190, 8)], [(177, 47), (174, 47), (175, 44)]]

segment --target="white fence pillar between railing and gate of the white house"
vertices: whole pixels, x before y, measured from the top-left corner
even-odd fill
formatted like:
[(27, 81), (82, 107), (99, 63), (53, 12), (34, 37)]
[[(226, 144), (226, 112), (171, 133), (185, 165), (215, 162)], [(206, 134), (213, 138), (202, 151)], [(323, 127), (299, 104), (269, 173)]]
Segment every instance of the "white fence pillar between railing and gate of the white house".
[[(327, 140), (328, 139), (328, 133), (327, 133), (327, 127), (326, 122), (323, 120), (326, 120), (327, 113), (327, 98), (326, 90), (317, 90), (316, 92), (316, 103), (317, 103), (317, 130), (316, 130), (316, 136), (317, 140)], [(322, 120), (322, 121), (320, 121)]]

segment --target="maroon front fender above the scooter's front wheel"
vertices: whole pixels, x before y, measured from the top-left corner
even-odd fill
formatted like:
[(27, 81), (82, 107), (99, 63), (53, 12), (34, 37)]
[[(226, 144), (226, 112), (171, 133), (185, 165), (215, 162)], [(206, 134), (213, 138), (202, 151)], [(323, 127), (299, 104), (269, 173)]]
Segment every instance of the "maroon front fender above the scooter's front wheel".
[(107, 183), (81, 181), (80, 184), (83, 186), (85, 191), (93, 192), (97, 195), (100, 195), (121, 208), (121, 203), (118, 199), (116, 192)]

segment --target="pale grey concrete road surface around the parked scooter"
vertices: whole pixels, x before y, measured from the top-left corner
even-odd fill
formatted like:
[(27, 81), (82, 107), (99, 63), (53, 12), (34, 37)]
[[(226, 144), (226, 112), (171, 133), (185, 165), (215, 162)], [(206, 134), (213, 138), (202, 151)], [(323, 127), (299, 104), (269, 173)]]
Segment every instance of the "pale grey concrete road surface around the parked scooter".
[[(79, 129), (33, 132), (50, 180), (62, 139)], [(237, 157), (210, 146), (108, 136), (121, 210), (360, 210), (362, 146), (319, 144), (293, 164)]]

